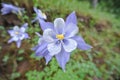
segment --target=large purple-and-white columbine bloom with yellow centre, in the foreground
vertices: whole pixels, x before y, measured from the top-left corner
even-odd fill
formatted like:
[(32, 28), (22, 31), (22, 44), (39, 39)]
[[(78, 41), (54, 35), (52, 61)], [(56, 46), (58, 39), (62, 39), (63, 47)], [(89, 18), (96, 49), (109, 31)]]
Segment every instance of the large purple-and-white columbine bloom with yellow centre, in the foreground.
[[(43, 30), (41, 39), (44, 43), (34, 48), (36, 54), (41, 56), (47, 53), (48, 61), (55, 56), (63, 70), (65, 70), (65, 65), (69, 61), (70, 53), (73, 50), (76, 48), (81, 50), (92, 48), (85, 43), (81, 36), (77, 35), (79, 29), (75, 12), (67, 17), (66, 22), (62, 18), (56, 18), (54, 24), (43, 21), (41, 28)], [(46, 52), (43, 52), (43, 50)]]

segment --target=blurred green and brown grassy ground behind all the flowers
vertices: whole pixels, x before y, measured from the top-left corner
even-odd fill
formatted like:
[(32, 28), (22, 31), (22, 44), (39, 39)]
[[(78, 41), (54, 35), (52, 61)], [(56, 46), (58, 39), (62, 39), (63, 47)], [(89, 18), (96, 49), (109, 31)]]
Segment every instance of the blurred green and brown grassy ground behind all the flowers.
[[(0, 80), (120, 80), (120, 0), (1, 0), (26, 9), (22, 17), (0, 14)], [(55, 58), (45, 65), (31, 48), (37, 44), (35, 32), (39, 24), (31, 24), (33, 6), (48, 16), (47, 21), (66, 18), (76, 12), (80, 35), (93, 48), (75, 50), (66, 65), (66, 72)], [(0, 7), (2, 8), (2, 7)], [(24, 40), (20, 49), (7, 44), (7, 33), (15, 25), (29, 23), (31, 39)]]

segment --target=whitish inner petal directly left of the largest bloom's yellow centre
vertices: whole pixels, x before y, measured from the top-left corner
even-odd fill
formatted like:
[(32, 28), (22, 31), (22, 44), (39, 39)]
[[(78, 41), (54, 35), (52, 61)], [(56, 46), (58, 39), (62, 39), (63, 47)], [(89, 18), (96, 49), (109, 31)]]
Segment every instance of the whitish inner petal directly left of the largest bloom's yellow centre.
[(46, 42), (51, 43), (54, 42), (55, 33), (52, 29), (45, 29), (43, 32), (43, 38)]

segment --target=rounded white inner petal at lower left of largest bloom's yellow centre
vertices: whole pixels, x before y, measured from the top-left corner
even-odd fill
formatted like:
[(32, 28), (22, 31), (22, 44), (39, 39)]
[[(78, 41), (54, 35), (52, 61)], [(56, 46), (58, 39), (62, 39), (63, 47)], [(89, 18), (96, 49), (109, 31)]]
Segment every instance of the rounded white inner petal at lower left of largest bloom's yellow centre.
[(61, 51), (61, 44), (59, 43), (50, 43), (47, 46), (48, 51), (50, 52), (50, 55), (56, 55)]

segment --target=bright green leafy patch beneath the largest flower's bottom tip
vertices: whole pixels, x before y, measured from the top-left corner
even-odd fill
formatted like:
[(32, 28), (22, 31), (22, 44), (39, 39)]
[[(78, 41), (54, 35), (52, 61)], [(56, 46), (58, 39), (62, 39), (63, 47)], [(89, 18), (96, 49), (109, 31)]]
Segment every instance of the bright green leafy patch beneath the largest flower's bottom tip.
[(66, 71), (62, 71), (54, 59), (46, 66), (43, 71), (28, 71), (27, 80), (83, 80), (87, 75), (89, 77), (101, 77), (102, 74), (93, 62), (85, 61), (80, 63), (71, 60), (67, 64)]

